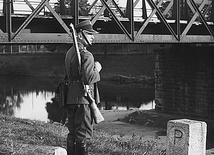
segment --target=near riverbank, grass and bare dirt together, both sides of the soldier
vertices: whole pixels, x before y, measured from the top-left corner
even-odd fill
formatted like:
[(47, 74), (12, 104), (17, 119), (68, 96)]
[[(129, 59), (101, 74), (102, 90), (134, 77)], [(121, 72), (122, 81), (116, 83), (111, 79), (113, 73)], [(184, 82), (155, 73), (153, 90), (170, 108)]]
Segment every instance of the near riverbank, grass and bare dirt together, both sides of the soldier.
[[(93, 155), (142, 155), (146, 151), (154, 155), (164, 154), (166, 123), (180, 118), (154, 110), (101, 112), (105, 121), (94, 126), (94, 136), (89, 142)], [(38, 155), (45, 154), (47, 150), (44, 148), (51, 146), (66, 148), (68, 130), (59, 123), (0, 115), (0, 125), (1, 155)], [(213, 149), (209, 148), (206, 155), (213, 153)]]

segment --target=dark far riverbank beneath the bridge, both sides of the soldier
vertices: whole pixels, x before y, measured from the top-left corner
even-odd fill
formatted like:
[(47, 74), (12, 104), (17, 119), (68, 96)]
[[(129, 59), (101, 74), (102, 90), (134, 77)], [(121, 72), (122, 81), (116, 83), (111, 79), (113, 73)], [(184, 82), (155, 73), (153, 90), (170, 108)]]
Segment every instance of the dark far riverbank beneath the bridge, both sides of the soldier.
[[(64, 77), (64, 53), (5, 54), (0, 57), (0, 75), (46, 78)], [(94, 55), (102, 64), (103, 80), (146, 82), (154, 78), (153, 54)]]

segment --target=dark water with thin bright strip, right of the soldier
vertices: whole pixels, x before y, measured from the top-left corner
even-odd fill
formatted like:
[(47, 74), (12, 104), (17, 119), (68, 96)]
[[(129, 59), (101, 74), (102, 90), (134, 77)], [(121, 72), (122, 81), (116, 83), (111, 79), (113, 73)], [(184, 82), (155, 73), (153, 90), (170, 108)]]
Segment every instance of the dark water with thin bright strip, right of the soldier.
[(105, 81), (98, 84), (101, 95), (101, 104), (99, 105), (101, 109), (154, 109), (154, 88), (140, 84), (117, 85)]

